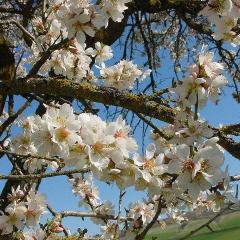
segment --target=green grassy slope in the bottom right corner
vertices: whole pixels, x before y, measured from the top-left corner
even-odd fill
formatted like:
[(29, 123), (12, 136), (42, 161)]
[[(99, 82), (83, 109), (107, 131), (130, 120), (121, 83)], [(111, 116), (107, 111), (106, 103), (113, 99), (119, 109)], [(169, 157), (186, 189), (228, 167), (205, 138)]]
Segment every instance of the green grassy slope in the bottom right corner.
[[(169, 225), (165, 230), (160, 227), (152, 229), (145, 240), (152, 240), (152, 237), (157, 237), (157, 240), (178, 240), (185, 236), (191, 230), (194, 230), (207, 222), (208, 219), (191, 221), (184, 230), (179, 230), (178, 225)], [(214, 233), (209, 229), (203, 228), (189, 240), (240, 240), (240, 213), (231, 213), (221, 216), (218, 222), (211, 223)]]

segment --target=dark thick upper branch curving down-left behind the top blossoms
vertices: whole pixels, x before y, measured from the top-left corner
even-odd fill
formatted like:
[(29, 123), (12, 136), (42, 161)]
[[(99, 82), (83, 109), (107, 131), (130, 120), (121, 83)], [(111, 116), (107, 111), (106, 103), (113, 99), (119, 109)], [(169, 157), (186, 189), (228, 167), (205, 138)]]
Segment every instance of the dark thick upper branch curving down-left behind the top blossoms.
[[(128, 17), (135, 13), (136, 11), (148, 12), (148, 13), (159, 13), (166, 10), (176, 10), (182, 11), (184, 13), (189, 13), (191, 15), (197, 15), (197, 13), (204, 7), (206, 1), (200, 0), (159, 0), (154, 4), (151, 0), (135, 0), (128, 4), (127, 11), (124, 12), (124, 19), (121, 22), (109, 21), (108, 27), (101, 28), (96, 32), (93, 38), (88, 38), (86, 44), (88, 47), (94, 45), (95, 42), (103, 42), (107, 45), (112, 45), (117, 39), (123, 34)], [(114, 32), (114, 34), (113, 34)], [(69, 40), (65, 39), (62, 42), (52, 45), (43, 54), (41, 59), (33, 66), (29, 72), (29, 76), (34, 76), (38, 73), (41, 66), (47, 61), (51, 56), (51, 53), (57, 49), (61, 49), (68, 45)]]

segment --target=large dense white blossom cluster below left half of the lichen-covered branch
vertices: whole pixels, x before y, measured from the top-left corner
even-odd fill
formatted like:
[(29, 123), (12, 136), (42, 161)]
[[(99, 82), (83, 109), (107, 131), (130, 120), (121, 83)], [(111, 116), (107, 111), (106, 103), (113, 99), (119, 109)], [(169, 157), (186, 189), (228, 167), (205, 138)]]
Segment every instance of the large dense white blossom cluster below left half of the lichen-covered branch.
[(24, 167), (31, 173), (46, 164), (57, 168), (57, 162), (46, 159), (54, 156), (64, 159), (65, 166), (90, 166), (99, 173), (110, 165), (122, 169), (128, 165), (130, 154), (137, 150), (136, 141), (128, 136), (130, 128), (121, 117), (106, 123), (90, 113), (76, 115), (68, 104), (59, 109), (47, 108), (42, 118), (38, 115), (26, 118), (22, 127), (23, 134), (13, 140), (11, 149), (30, 155), (24, 160)]

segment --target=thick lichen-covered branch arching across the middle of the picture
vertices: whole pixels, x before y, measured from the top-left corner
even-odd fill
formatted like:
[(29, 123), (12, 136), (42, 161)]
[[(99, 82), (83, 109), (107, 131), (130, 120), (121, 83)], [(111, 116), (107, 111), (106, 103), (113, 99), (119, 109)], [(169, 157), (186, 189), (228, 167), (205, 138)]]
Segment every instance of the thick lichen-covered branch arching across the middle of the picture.
[[(150, 100), (151, 96), (118, 91), (115, 88), (98, 87), (89, 83), (75, 83), (64, 78), (29, 78), (18, 79), (6, 86), (0, 84), (0, 94), (47, 94), (57, 97), (71, 97), (78, 100), (87, 99), (105, 105), (120, 106), (133, 112), (173, 123), (175, 111), (164, 104)], [(224, 135), (221, 130), (213, 128), (219, 137), (219, 144), (234, 157), (240, 159), (240, 143)]]

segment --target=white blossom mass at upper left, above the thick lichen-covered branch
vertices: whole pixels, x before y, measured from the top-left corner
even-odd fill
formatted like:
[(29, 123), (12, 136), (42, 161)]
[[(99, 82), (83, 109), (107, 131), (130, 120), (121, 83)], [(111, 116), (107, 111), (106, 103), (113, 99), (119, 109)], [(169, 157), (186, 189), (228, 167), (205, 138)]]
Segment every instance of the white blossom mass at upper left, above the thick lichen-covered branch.
[[(46, 19), (43, 21), (36, 17), (33, 20), (36, 40), (30, 54), (21, 61), (19, 71), (26, 73), (24, 66), (26, 68), (29, 63), (39, 61), (53, 44), (62, 44), (41, 66), (41, 74), (65, 76), (76, 82), (103, 83), (120, 90), (132, 88), (137, 79), (146, 78), (150, 71), (144, 72), (127, 60), (107, 68), (104, 62), (113, 57), (111, 47), (100, 42), (87, 47), (87, 38), (94, 37), (97, 31), (107, 27), (110, 18), (115, 22), (122, 21), (123, 12), (127, 9), (125, 4), (130, 1), (104, 0), (99, 4), (88, 0), (51, 1), (51, 7), (46, 10)], [(91, 70), (94, 62), (100, 69), (98, 76)]]

